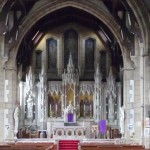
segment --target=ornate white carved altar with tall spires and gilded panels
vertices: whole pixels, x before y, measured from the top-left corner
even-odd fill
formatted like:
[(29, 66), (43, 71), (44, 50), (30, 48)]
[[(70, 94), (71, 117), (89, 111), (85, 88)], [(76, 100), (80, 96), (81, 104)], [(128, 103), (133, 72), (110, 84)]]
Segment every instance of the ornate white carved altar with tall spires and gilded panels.
[(118, 131), (120, 97), (116, 95), (117, 86), (111, 68), (108, 85), (102, 82), (98, 65), (94, 81), (80, 80), (79, 69), (74, 66), (70, 54), (62, 80), (48, 81), (46, 74), (41, 72), (39, 82), (34, 83), (32, 76), (30, 68), (26, 83), (21, 84), (20, 91), (26, 89), (23, 91), (22, 118), (25, 119), (22, 128), (37, 126), (37, 130), (47, 131), (47, 138), (54, 139), (103, 138), (106, 133), (101, 133), (99, 126), (101, 120), (105, 120), (108, 129)]

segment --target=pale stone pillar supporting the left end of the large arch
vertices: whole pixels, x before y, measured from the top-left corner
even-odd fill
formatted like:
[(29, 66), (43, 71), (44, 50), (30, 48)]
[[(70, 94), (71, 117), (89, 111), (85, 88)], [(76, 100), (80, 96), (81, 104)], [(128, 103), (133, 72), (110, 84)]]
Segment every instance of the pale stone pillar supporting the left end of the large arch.
[(7, 66), (4, 67), (4, 140), (14, 140), (14, 108), (17, 100), (16, 92), (16, 67)]

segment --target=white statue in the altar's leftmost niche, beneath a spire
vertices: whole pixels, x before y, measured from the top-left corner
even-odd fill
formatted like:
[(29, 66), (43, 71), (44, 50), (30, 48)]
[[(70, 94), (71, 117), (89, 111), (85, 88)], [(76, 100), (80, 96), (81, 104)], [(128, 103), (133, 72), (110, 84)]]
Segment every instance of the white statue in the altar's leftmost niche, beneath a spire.
[(33, 97), (30, 94), (27, 99), (27, 118), (33, 119)]

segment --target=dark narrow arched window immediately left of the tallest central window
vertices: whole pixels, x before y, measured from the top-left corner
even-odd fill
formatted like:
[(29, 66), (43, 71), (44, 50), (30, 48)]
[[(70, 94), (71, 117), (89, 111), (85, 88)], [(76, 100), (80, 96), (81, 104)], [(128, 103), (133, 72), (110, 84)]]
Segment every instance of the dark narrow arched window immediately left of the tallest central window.
[(57, 40), (50, 38), (47, 40), (47, 51), (48, 51), (48, 69), (57, 69)]

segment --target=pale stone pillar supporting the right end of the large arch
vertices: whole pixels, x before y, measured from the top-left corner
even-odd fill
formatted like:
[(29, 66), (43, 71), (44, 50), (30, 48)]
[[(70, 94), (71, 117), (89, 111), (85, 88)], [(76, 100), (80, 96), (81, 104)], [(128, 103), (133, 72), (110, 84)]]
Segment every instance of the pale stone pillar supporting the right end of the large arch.
[[(124, 47), (123, 53), (124, 68), (122, 69), (123, 75), (123, 101), (124, 101), (124, 113), (125, 113), (125, 128), (124, 138), (127, 142), (130, 142), (130, 109), (133, 109), (133, 102), (130, 102), (130, 80), (134, 80), (134, 63), (130, 58), (129, 50)], [(133, 100), (134, 101), (134, 100)]]

